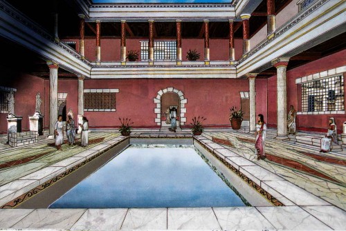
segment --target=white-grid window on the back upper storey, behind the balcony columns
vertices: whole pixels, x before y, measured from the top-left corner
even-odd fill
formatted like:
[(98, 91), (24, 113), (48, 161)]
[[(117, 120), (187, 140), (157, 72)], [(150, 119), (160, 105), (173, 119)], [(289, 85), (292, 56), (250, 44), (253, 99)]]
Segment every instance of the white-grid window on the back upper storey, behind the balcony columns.
[[(140, 59), (149, 60), (148, 41), (140, 41)], [(176, 60), (176, 41), (154, 41), (154, 60)]]

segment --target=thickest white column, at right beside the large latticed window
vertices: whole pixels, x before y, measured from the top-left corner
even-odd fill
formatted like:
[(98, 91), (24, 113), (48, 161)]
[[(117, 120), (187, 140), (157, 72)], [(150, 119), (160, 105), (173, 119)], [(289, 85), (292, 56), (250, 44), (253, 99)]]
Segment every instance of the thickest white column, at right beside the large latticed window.
[(280, 58), (272, 61), (277, 70), (277, 137), (276, 139), (288, 139), (287, 137), (287, 91), (286, 68), (289, 59)]

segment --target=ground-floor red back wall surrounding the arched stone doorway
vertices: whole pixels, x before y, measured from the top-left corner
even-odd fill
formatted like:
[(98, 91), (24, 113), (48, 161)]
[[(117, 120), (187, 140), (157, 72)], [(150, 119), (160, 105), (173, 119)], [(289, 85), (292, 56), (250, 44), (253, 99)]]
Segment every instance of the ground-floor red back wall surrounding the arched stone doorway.
[(84, 112), (91, 127), (118, 126), (118, 117), (128, 117), (134, 126), (156, 126), (154, 98), (161, 89), (174, 87), (188, 99), (185, 117), (206, 117), (206, 125), (230, 125), (231, 106), (240, 107), (241, 91), (248, 91), (247, 79), (114, 79), (85, 80), (84, 88), (118, 88), (116, 112)]

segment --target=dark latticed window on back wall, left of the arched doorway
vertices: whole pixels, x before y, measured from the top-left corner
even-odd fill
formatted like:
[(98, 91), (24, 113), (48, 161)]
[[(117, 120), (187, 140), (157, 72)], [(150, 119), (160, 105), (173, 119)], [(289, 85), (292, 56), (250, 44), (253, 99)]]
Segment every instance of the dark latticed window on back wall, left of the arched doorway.
[(115, 92), (84, 92), (84, 110), (91, 112), (115, 111)]

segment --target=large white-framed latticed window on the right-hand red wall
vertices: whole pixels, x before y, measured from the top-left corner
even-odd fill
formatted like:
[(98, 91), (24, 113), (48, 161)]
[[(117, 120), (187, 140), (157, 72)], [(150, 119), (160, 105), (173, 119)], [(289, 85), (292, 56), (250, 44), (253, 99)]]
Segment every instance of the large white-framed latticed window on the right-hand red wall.
[(302, 112), (343, 110), (345, 110), (343, 75), (302, 83)]

